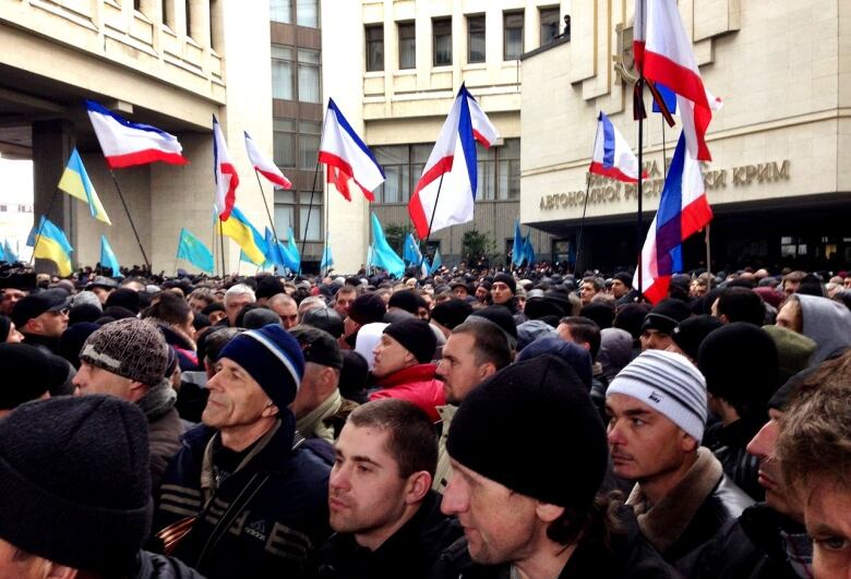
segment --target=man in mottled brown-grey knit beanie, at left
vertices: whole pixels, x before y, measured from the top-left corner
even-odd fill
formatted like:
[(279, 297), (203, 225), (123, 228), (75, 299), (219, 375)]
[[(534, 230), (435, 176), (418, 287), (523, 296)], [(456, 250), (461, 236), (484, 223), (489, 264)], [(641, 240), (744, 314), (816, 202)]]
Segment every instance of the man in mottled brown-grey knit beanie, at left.
[(147, 417), (151, 478), (159, 488), (168, 461), (180, 448), (183, 423), (177, 393), (166, 376), (168, 346), (157, 326), (135, 317), (94, 331), (80, 351), (73, 384), (81, 395), (108, 394), (134, 402)]

